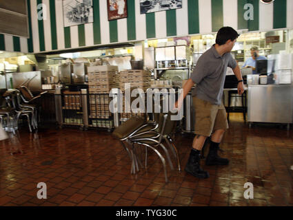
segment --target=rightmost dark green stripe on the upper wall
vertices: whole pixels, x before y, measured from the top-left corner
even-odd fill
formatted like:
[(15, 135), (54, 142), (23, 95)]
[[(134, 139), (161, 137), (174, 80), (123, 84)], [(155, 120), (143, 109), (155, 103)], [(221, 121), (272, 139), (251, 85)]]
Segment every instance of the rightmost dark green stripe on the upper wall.
[[(292, 0), (290, 0), (292, 1)], [(287, 25), (287, 1), (274, 1), (274, 28), (286, 28)]]

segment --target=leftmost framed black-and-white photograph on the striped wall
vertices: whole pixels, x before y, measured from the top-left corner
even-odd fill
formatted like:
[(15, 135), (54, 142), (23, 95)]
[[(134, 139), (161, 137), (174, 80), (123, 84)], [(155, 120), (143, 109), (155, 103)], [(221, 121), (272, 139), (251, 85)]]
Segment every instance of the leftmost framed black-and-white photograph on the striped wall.
[(63, 0), (64, 27), (94, 22), (92, 0)]

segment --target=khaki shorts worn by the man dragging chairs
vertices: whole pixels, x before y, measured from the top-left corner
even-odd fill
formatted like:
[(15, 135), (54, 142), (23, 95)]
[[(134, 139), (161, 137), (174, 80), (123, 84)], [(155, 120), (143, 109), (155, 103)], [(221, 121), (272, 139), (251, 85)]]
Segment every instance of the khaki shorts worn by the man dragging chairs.
[(208, 101), (193, 97), (195, 110), (194, 133), (209, 137), (213, 131), (229, 128), (226, 110), (221, 104), (212, 104)]

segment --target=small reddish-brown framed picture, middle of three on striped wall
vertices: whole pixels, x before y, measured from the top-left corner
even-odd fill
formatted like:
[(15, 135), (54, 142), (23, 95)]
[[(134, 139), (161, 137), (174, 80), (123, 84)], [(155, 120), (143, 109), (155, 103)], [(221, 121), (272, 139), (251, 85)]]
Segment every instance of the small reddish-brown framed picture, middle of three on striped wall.
[(126, 0), (107, 0), (108, 1), (108, 21), (127, 18)]

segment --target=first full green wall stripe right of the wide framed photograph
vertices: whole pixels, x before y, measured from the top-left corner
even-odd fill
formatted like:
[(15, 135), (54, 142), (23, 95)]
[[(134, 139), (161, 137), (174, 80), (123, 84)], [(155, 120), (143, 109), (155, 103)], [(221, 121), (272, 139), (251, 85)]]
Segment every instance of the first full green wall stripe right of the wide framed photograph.
[(199, 0), (188, 0), (188, 33), (199, 34)]

